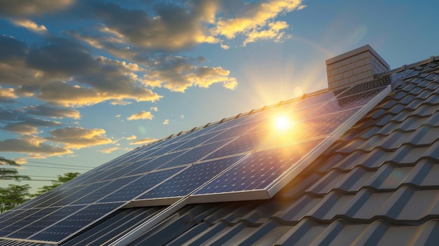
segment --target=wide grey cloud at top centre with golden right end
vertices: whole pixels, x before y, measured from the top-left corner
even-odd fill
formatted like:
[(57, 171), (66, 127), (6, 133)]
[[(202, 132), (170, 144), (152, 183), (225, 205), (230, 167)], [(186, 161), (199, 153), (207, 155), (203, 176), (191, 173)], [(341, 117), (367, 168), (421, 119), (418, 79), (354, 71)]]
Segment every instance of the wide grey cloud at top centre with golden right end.
[(83, 15), (102, 23), (97, 30), (103, 37), (86, 35), (83, 40), (97, 48), (109, 43), (129, 43), (147, 50), (182, 50), (200, 43), (222, 43), (238, 34), (256, 35), (278, 16), (304, 8), (301, 3), (302, 0), (194, 0), (150, 4), (148, 11), (144, 11), (92, 2), (82, 6)]

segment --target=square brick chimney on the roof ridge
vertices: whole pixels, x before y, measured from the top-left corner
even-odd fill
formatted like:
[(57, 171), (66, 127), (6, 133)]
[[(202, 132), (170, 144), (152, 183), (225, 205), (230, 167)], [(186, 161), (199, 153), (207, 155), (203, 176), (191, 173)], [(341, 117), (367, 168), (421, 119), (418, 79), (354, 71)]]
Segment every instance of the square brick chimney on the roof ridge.
[(369, 45), (326, 60), (327, 87), (337, 90), (372, 81), (375, 74), (389, 71), (384, 59)]

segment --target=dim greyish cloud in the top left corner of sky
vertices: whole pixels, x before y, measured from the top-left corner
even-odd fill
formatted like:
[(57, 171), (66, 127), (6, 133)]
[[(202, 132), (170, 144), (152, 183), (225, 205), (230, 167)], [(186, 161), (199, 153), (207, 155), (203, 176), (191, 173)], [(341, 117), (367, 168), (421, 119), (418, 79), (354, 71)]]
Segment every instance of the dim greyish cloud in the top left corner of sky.
[(73, 3), (74, 0), (14, 0), (13, 4), (9, 1), (0, 1), (0, 15), (13, 17), (43, 15), (43, 13), (62, 11)]

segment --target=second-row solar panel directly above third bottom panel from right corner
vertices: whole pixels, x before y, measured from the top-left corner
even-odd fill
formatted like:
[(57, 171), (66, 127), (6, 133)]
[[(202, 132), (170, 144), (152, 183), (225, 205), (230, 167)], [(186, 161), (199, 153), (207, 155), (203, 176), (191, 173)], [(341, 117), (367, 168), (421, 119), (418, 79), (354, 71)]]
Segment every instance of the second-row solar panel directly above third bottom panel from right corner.
[(205, 144), (202, 146), (198, 146), (194, 149), (191, 149), (185, 153), (183, 153), (181, 156), (178, 156), (178, 158), (175, 158), (171, 160), (170, 162), (166, 163), (165, 165), (162, 165), (160, 168), (170, 168), (175, 167), (177, 165), (184, 165), (189, 163), (194, 163), (197, 160), (200, 160), (203, 158), (206, 154), (212, 153), (219, 147), (223, 146), (226, 141), (221, 142), (215, 142), (212, 144)]

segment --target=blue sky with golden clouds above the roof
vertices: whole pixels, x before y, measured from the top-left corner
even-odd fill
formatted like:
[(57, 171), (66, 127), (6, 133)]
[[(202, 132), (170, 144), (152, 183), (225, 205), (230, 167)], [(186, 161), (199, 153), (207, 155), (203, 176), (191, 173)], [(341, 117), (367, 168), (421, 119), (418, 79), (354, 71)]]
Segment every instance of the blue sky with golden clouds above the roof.
[[(0, 0), (0, 156), (33, 189), (196, 126), (327, 88), (369, 44), (439, 55), (439, 1)], [(3, 166), (10, 168), (9, 166)]]

